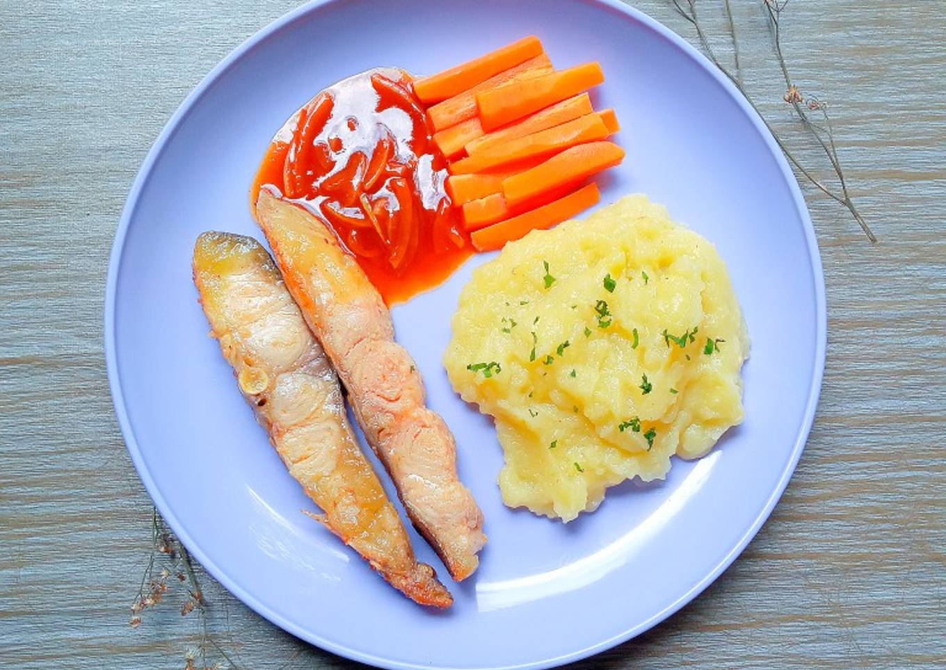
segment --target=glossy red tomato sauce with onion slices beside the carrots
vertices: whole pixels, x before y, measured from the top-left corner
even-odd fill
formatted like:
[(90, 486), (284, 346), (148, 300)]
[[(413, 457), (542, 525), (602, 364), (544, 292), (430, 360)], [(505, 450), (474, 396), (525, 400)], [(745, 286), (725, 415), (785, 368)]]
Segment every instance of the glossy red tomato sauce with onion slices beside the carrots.
[(335, 231), (389, 305), (442, 283), (473, 253), (444, 188), (447, 161), (411, 77), (378, 68), (317, 94), (279, 129), (254, 180)]

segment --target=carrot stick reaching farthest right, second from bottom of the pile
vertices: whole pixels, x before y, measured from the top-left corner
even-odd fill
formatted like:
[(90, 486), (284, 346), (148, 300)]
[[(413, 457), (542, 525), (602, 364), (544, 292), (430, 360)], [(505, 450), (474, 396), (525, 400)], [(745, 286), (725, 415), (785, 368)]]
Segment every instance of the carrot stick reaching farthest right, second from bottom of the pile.
[(611, 142), (572, 146), (548, 161), (502, 180), (502, 195), (510, 206), (581, 180), (621, 163), (624, 150)]

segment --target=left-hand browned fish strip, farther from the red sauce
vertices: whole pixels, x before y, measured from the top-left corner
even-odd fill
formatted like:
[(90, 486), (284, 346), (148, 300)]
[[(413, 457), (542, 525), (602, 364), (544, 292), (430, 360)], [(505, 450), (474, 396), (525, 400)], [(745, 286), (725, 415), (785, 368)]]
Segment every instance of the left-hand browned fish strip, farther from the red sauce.
[(204, 232), (194, 283), (211, 335), (292, 476), (322, 508), (312, 515), (394, 588), (422, 605), (453, 599), (414, 558), (407, 531), (361, 453), (342, 389), (272, 258), (251, 237)]

